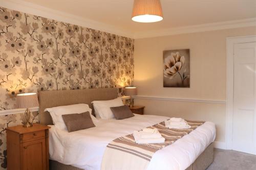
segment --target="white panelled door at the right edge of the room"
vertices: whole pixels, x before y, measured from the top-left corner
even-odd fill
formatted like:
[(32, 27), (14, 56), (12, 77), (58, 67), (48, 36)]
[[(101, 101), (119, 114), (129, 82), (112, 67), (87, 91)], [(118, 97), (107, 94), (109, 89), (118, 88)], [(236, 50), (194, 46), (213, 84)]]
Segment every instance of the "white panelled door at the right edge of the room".
[(234, 45), (232, 149), (256, 155), (256, 42)]

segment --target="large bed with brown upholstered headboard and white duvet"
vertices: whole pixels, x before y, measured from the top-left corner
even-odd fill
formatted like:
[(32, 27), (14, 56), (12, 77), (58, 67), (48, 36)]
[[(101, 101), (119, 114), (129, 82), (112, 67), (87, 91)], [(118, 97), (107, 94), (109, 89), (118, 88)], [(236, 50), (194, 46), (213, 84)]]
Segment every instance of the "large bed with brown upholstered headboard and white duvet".
[[(117, 88), (41, 91), (39, 92), (40, 123), (52, 125), (51, 116), (49, 112), (44, 111), (45, 108), (86, 103), (93, 109), (92, 101), (111, 100), (117, 98), (117, 95)], [(131, 134), (134, 130), (159, 123), (164, 119), (166, 119), (164, 116), (136, 115), (122, 121), (102, 120), (96, 128), (72, 134), (51, 126), (49, 132), (50, 169), (100, 169), (104, 148), (110, 141), (116, 137)], [(119, 127), (118, 130), (116, 127)], [(202, 127), (156, 152), (155, 155), (158, 156), (154, 155), (147, 169), (160, 167), (158, 163), (159, 165), (166, 164), (163, 169), (206, 169), (213, 161), (212, 141), (214, 139), (214, 124), (206, 122)], [(167, 161), (164, 158), (168, 158)]]

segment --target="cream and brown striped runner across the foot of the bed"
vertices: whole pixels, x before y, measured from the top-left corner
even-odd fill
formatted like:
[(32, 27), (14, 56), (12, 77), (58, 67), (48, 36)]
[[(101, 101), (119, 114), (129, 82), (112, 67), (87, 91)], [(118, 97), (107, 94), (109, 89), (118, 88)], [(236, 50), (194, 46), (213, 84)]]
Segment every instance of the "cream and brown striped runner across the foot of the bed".
[[(116, 160), (115, 163), (122, 163), (125, 161), (124, 159), (118, 159), (118, 157), (126, 157), (126, 160), (133, 160), (132, 162), (138, 162), (138, 166), (144, 167), (140, 169), (145, 169), (147, 164), (151, 161), (152, 156), (158, 150), (166, 147), (169, 144), (174, 143), (176, 140), (182, 138), (184, 135), (189, 134), (191, 131), (195, 130), (197, 127), (204, 124), (202, 121), (190, 121), (186, 120), (188, 125), (191, 126), (189, 129), (168, 129), (165, 127), (164, 122), (153, 125), (147, 128), (156, 128), (160, 134), (165, 138), (164, 143), (156, 143), (156, 144), (137, 144), (134, 140), (133, 134), (126, 135), (123, 137), (119, 137), (113, 141), (111, 141), (105, 150), (103, 161), (102, 161), (102, 169), (108, 169), (108, 165), (104, 165), (104, 162), (108, 162), (107, 164), (111, 164), (111, 159)], [(109, 158), (106, 158), (109, 157)], [(110, 159), (111, 157), (111, 159)], [(116, 157), (116, 158), (115, 158)], [(139, 159), (139, 160), (137, 160)], [(119, 162), (118, 162), (118, 161)], [(142, 164), (144, 165), (142, 165)]]

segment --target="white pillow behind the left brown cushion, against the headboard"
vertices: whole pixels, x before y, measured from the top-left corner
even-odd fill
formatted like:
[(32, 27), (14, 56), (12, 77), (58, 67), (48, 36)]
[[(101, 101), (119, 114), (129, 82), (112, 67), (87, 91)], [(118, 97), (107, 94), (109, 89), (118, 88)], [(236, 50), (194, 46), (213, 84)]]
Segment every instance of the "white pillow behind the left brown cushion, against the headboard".
[(93, 120), (93, 124), (96, 125), (98, 120), (92, 115), (92, 109), (89, 108), (87, 104), (75, 104), (75, 105), (68, 105), (68, 106), (58, 106), (47, 108), (45, 111), (48, 111), (52, 116), (53, 124), (62, 130), (67, 130), (67, 127), (63, 121), (61, 115), (63, 114), (75, 114), (75, 113), (83, 113), (83, 112), (90, 112), (91, 118)]

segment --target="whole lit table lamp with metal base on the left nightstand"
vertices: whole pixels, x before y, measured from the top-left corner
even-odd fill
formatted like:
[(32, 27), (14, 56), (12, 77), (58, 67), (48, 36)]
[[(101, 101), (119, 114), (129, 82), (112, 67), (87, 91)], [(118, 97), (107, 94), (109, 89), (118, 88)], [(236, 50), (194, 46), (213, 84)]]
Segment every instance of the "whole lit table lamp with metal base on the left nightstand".
[(36, 93), (17, 94), (16, 105), (17, 105), (17, 108), (26, 109), (26, 111), (25, 111), (26, 123), (23, 126), (24, 127), (33, 126), (32, 123), (29, 122), (29, 120), (30, 120), (29, 108), (39, 106), (37, 94)]

